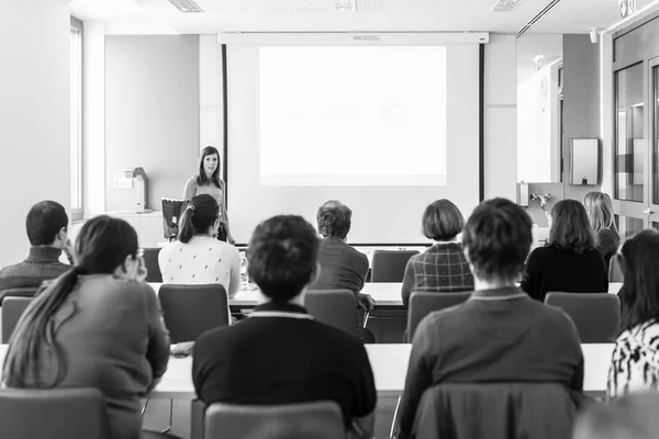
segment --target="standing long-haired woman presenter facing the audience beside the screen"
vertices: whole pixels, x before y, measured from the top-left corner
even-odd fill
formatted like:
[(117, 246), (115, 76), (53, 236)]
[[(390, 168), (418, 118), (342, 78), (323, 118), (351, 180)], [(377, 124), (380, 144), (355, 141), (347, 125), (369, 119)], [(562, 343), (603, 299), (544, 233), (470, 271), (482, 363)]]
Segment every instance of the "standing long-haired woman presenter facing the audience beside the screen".
[[(220, 205), (220, 229), (217, 237), (228, 244), (235, 244), (228, 228), (228, 216), (226, 215), (226, 203), (224, 191), (226, 184), (220, 178), (220, 153), (212, 146), (206, 146), (199, 158), (199, 170), (197, 176), (191, 177), (183, 189), (183, 200), (189, 202), (194, 196), (206, 193), (213, 196)], [(226, 239), (224, 239), (226, 238)]]

